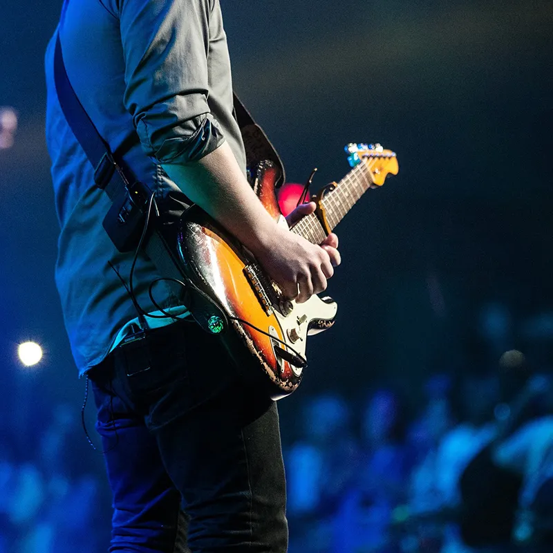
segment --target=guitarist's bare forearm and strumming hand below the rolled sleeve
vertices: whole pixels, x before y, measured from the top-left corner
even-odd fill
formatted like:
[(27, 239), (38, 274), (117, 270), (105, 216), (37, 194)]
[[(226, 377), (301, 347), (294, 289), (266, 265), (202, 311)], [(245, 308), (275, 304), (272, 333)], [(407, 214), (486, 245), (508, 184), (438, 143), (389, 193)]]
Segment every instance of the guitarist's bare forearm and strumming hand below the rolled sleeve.
[[(286, 297), (302, 303), (326, 289), (334, 273), (332, 265), (340, 263), (336, 235), (315, 245), (277, 225), (254, 194), (227, 142), (197, 162), (162, 167), (191, 201), (254, 254)], [(315, 203), (301, 205), (290, 220), (314, 211)]]

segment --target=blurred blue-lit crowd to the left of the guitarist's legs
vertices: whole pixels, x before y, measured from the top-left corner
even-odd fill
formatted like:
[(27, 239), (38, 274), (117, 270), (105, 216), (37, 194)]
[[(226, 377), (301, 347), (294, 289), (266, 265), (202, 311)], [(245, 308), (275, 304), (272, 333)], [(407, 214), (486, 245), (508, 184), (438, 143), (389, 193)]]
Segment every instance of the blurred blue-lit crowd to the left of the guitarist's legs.
[[(97, 553), (105, 548), (99, 526), (100, 471), (88, 474), (75, 442), (79, 416), (70, 406), (37, 420), (37, 448), (15, 453), (12, 437), (0, 442), (0, 553)], [(86, 536), (86, 539), (83, 539)]]

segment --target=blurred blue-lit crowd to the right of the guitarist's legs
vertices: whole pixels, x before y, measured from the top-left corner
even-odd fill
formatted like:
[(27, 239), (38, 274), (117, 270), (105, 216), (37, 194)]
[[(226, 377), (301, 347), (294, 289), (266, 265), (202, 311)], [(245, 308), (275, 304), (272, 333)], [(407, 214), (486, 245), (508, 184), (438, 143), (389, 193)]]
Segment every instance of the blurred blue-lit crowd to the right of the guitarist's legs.
[[(312, 398), (288, 449), (290, 551), (553, 550), (553, 388), (536, 374), (545, 356), (530, 367), (509, 349), (517, 324), (502, 303), (482, 306), (478, 362), (431, 375), (409, 417), (393, 388), (359, 413)], [(548, 350), (550, 317), (519, 326), (529, 348)]]

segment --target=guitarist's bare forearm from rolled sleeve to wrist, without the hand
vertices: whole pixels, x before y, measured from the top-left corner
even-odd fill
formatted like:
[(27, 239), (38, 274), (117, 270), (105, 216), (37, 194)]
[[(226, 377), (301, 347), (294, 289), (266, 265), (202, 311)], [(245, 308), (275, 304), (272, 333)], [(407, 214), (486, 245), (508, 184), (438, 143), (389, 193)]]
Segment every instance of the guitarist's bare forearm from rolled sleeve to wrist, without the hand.
[(250, 250), (255, 251), (277, 232), (227, 142), (196, 162), (162, 167), (194, 203)]

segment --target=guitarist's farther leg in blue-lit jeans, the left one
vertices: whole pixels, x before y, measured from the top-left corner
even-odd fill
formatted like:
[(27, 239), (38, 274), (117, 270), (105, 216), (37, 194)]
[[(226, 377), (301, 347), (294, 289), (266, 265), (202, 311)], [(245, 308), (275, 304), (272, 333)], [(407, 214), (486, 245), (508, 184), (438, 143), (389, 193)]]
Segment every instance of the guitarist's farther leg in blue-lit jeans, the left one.
[[(107, 359), (91, 382), (97, 406), (96, 428), (113, 491), (110, 552), (185, 553), (186, 520), (160, 459), (156, 440), (113, 390)], [(101, 371), (101, 372), (100, 372)]]

